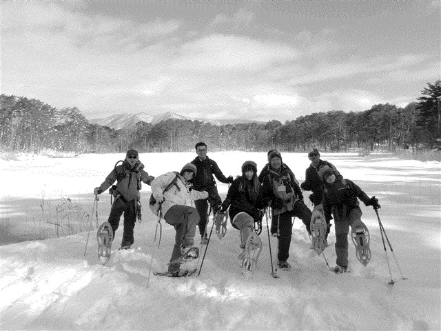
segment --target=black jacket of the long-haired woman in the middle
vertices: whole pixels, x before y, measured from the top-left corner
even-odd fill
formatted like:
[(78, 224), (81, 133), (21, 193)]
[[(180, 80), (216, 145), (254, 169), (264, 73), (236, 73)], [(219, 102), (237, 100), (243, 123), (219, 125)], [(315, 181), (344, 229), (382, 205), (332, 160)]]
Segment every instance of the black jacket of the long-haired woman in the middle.
[[(222, 203), (222, 208), (227, 209), (229, 206), (229, 217), (234, 219), (234, 216), (239, 212), (246, 212), (253, 217), (255, 222), (260, 221), (260, 214), (258, 209), (265, 208), (262, 198), (262, 185), (259, 185), (258, 193), (253, 190), (239, 191), (240, 181), (243, 177), (234, 179), (232, 185), (228, 189), (227, 197)], [(250, 185), (252, 181), (245, 179)]]

